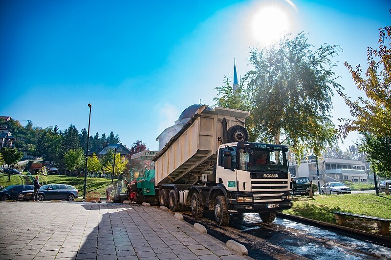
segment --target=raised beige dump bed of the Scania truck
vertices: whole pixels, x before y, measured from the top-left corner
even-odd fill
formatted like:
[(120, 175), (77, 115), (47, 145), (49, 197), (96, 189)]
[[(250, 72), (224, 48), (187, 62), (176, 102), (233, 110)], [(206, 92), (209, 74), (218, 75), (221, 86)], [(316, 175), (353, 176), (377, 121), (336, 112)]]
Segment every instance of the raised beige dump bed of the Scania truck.
[(156, 184), (193, 184), (202, 174), (212, 173), (218, 145), (224, 139), (223, 119), (229, 132), (230, 129), (235, 130), (232, 128), (235, 125), (244, 127), (250, 114), (227, 108), (206, 108), (206, 105), (201, 106), (154, 157)]

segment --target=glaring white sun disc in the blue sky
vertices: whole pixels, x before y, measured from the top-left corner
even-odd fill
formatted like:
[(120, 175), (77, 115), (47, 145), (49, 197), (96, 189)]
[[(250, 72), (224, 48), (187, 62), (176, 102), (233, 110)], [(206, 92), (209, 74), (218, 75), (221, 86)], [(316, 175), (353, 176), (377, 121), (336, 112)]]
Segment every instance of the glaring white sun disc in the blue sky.
[(287, 14), (278, 6), (262, 6), (252, 18), (251, 31), (255, 40), (269, 45), (289, 31)]

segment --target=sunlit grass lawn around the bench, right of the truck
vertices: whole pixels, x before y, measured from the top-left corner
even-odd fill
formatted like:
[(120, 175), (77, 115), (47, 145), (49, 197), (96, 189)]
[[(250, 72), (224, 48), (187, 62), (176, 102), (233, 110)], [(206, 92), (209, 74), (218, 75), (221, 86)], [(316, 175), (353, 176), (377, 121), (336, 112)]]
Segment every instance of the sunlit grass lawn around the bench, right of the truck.
[[(297, 197), (296, 197), (297, 198)], [(391, 219), (391, 195), (380, 193), (317, 195), (313, 199), (299, 197), (293, 207), (282, 213), (336, 224), (331, 211), (344, 211), (365, 216)], [(376, 233), (376, 223), (352, 218), (347, 226)]]

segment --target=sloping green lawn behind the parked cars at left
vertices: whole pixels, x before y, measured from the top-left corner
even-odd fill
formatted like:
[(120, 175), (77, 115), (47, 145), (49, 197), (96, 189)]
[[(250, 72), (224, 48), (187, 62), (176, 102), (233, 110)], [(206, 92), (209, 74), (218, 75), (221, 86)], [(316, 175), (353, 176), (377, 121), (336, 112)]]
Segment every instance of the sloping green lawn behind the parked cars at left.
[[(14, 184), (22, 184), (22, 181), (25, 183), (23, 175), (11, 175), (11, 180), (8, 181), (8, 174), (0, 174), (0, 185), (3, 187)], [(59, 183), (72, 185), (79, 191), (79, 195), (83, 196), (84, 177), (76, 178), (64, 175), (40, 175), (40, 181), (43, 184)], [(114, 182), (116, 181), (117, 180), (114, 180)], [(87, 192), (100, 192), (101, 196), (103, 196), (106, 188), (110, 184), (111, 180), (109, 179), (87, 177)]]

